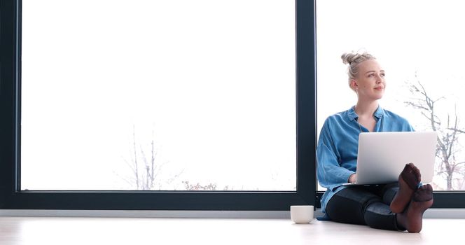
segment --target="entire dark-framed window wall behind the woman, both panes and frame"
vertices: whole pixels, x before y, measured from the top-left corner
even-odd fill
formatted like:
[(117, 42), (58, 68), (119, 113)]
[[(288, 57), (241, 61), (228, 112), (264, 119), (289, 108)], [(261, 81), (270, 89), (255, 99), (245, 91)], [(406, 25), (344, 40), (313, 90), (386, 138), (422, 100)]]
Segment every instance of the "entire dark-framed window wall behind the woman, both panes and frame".
[(434, 207), (465, 207), (459, 1), (149, 2), (0, 1), (1, 209), (317, 204), (317, 132), (355, 103), (339, 57), (360, 49), (387, 70), (382, 106), (431, 130), (416, 85), (457, 132)]

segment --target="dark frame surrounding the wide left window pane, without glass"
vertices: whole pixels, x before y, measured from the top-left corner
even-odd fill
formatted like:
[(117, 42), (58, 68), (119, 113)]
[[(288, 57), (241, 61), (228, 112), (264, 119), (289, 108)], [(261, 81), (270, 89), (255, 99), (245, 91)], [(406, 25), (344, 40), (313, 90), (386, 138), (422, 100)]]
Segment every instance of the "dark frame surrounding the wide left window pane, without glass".
[(297, 190), (26, 191), (20, 190), (21, 0), (0, 8), (0, 209), (288, 210), (316, 204), (314, 1), (296, 0)]

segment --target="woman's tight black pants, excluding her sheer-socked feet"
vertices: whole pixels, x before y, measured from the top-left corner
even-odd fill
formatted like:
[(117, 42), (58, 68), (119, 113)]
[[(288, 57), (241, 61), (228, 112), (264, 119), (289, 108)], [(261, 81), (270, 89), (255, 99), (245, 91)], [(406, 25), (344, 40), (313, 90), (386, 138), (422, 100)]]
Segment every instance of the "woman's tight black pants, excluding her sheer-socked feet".
[(331, 197), (326, 214), (333, 221), (368, 225), (383, 230), (405, 230), (397, 225), (396, 214), (389, 209), (398, 184), (349, 186)]

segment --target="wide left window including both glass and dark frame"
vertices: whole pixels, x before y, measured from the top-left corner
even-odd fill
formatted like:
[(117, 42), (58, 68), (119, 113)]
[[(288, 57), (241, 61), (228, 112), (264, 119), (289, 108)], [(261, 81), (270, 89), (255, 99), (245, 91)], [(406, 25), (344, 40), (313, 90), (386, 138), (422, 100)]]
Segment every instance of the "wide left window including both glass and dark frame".
[(312, 3), (1, 4), (1, 207), (314, 203)]

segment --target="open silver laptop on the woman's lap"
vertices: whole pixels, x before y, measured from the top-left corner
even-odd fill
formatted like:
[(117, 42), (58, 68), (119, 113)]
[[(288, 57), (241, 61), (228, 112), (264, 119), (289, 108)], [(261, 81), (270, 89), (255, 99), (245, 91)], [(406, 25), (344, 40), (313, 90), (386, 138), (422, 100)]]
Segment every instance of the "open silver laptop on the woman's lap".
[(355, 184), (396, 182), (409, 162), (420, 170), (422, 183), (429, 183), (433, 181), (436, 144), (436, 132), (361, 133)]

